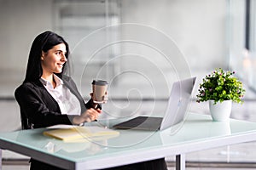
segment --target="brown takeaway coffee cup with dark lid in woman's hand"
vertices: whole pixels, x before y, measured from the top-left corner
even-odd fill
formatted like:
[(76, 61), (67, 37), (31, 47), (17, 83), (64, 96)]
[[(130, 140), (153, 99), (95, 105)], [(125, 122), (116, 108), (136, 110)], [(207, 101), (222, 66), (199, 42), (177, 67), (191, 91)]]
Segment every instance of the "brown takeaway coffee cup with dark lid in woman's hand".
[(92, 92), (93, 92), (93, 102), (94, 103), (102, 103), (104, 95), (107, 92), (108, 82), (104, 80), (93, 80), (92, 84)]

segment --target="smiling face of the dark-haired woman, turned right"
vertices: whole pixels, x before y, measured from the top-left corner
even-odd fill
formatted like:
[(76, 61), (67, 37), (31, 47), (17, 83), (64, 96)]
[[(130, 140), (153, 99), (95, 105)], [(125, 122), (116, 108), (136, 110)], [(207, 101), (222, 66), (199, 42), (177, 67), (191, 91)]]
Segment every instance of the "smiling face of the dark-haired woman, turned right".
[(63, 65), (66, 63), (67, 58), (66, 45), (60, 43), (50, 48), (46, 53), (42, 52), (41, 65), (43, 69), (42, 77), (49, 77), (53, 73), (61, 73)]

